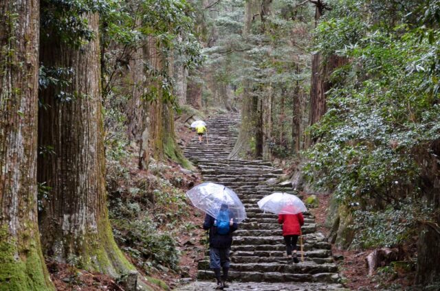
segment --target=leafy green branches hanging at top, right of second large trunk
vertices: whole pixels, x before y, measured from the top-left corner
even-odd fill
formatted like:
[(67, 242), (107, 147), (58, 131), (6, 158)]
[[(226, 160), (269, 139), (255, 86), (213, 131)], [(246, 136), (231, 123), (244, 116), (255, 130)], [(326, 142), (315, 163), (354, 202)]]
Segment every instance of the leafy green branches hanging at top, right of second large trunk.
[[(144, 68), (149, 82), (144, 99), (148, 102), (175, 104), (173, 76), (169, 75), (169, 56), (174, 55), (184, 67), (192, 67), (202, 61), (200, 46), (192, 33), (194, 15), (187, 1), (136, 0), (116, 1), (101, 17), (101, 42), (104, 48), (103, 73), (104, 97), (117, 91), (120, 71), (127, 69), (137, 49), (153, 42), (157, 48), (154, 58), (162, 58), (162, 68), (151, 64), (154, 58), (144, 58)], [(111, 49), (109, 49), (111, 47)], [(145, 86), (145, 84), (140, 84)]]

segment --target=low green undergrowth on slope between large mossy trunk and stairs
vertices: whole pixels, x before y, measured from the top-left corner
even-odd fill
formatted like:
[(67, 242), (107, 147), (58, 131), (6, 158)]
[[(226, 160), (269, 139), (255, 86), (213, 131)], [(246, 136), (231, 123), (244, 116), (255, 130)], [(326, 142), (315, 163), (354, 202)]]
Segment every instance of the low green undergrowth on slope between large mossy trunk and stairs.
[(121, 165), (127, 159), (109, 159), (107, 165), (109, 218), (115, 240), (144, 272), (164, 268), (176, 271), (180, 255), (177, 237), (181, 231), (195, 228), (186, 221), (189, 207), (184, 192), (172, 185), (179, 176), (170, 176), (170, 183), (163, 174), (170, 172), (170, 167), (151, 163), (150, 172), (155, 176), (133, 181)]

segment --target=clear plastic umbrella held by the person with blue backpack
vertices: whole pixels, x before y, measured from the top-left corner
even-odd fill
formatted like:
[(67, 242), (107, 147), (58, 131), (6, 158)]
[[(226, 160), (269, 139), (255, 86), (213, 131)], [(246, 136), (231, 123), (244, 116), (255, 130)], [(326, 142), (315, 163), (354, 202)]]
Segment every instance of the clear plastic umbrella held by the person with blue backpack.
[(234, 222), (246, 219), (246, 211), (239, 196), (232, 189), (216, 183), (201, 183), (186, 192), (192, 204), (201, 211), (217, 218), (221, 205), (228, 205)]

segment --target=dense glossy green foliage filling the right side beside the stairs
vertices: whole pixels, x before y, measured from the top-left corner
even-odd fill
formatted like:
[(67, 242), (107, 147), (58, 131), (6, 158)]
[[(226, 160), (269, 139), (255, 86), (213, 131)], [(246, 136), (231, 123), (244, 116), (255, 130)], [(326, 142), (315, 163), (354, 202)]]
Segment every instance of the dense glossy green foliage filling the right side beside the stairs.
[(440, 32), (423, 24), (423, 3), (333, 1), (316, 30), (317, 50), (350, 62), (331, 76), (306, 171), (344, 205), (360, 205), (358, 224), (371, 224), (357, 229), (364, 246), (399, 244), (415, 229), (401, 202), (420, 199), (419, 155), (440, 137)]

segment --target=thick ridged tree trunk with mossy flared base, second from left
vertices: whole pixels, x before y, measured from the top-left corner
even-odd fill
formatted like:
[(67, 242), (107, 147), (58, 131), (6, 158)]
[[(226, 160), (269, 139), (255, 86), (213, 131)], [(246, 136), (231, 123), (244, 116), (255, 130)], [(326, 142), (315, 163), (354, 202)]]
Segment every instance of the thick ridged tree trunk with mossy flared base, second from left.
[[(86, 14), (98, 36), (98, 14)], [(113, 240), (104, 185), (105, 158), (100, 101), (98, 37), (81, 49), (58, 39), (41, 43), (46, 67), (71, 67), (72, 84), (63, 89), (74, 100), (56, 98), (60, 88), (40, 95), (39, 146), (54, 154), (39, 156), (39, 182), (52, 187), (41, 213), (43, 250), (57, 261), (77, 261), (87, 270), (112, 276), (134, 269)]]

